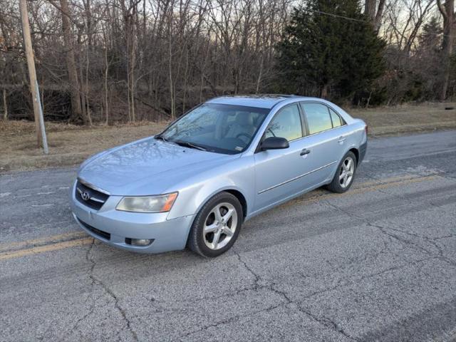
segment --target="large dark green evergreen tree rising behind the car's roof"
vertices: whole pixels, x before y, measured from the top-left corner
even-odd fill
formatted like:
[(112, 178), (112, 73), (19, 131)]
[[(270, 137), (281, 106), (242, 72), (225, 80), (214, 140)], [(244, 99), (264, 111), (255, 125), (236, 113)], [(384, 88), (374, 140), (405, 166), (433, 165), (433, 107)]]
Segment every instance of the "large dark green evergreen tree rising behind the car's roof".
[(284, 90), (353, 99), (385, 70), (384, 47), (357, 0), (309, 0), (278, 46)]

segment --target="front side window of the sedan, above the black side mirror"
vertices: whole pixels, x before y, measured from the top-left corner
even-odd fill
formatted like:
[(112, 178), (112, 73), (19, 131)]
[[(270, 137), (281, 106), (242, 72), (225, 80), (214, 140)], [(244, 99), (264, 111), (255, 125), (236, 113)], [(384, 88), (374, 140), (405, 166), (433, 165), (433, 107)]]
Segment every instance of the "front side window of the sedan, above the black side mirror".
[(269, 123), (265, 137), (285, 138), (288, 141), (302, 138), (301, 115), (298, 105), (282, 108)]

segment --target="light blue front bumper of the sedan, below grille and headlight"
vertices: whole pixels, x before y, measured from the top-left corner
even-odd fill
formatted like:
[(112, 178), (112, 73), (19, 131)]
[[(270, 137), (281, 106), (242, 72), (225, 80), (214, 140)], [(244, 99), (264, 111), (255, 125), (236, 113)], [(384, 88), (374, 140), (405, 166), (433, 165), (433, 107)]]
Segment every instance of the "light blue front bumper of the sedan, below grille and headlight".
[[(76, 183), (75, 183), (76, 186)], [(161, 253), (184, 249), (194, 215), (167, 219), (168, 213), (121, 212), (115, 209), (121, 196), (111, 195), (100, 210), (78, 202), (75, 186), (71, 210), (79, 226), (90, 236), (113, 247), (140, 253)], [(128, 244), (128, 239), (151, 239), (145, 247)]]

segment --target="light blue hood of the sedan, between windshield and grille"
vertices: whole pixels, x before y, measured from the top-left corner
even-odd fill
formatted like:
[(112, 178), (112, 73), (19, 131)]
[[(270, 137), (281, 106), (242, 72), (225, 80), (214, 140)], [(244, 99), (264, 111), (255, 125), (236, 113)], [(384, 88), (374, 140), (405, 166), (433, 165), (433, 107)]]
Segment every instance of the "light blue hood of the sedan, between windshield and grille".
[(94, 155), (78, 177), (111, 195), (157, 195), (209, 165), (237, 155), (195, 150), (145, 138)]

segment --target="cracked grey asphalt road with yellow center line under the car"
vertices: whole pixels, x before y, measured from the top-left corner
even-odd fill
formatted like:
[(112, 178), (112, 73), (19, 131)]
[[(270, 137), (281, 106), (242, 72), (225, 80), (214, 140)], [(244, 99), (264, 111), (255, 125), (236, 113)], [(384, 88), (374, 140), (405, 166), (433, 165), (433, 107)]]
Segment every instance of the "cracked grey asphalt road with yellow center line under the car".
[(93, 243), (73, 177), (0, 176), (0, 341), (456, 340), (456, 131), (371, 140), (350, 192), (252, 219), (217, 259)]

